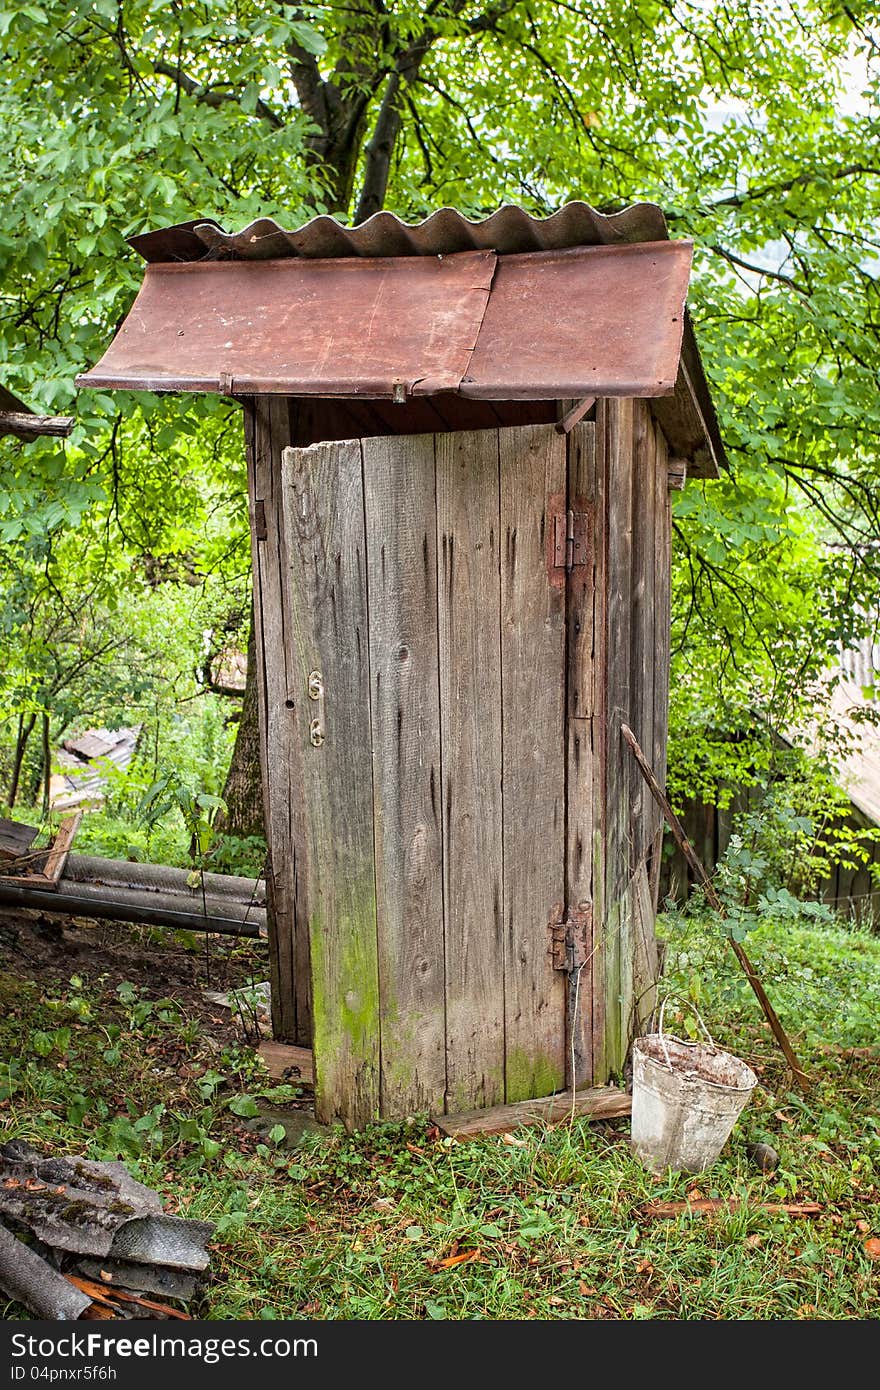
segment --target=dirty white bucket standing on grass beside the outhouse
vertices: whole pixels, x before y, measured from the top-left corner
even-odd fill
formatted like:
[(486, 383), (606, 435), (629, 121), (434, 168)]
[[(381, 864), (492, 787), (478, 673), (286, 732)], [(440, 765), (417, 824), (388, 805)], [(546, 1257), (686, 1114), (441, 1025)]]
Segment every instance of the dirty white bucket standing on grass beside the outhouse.
[(717, 1047), (699, 1019), (706, 1042), (684, 1042), (663, 1031), (633, 1044), (633, 1150), (662, 1173), (701, 1173), (715, 1163), (758, 1084), (751, 1066)]

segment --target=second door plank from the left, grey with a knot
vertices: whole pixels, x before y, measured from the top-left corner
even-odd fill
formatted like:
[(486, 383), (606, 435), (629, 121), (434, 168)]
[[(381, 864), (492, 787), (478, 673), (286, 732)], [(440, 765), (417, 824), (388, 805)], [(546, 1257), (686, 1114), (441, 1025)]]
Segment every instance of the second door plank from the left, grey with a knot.
[(446, 1091), (434, 436), (363, 441), (381, 1112)]

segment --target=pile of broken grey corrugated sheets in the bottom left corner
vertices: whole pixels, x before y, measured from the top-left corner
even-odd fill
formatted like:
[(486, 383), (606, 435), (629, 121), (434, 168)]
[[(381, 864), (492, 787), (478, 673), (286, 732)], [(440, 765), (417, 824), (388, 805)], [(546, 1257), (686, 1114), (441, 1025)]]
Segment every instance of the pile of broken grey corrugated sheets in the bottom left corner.
[(188, 1318), (164, 1300), (193, 1297), (213, 1230), (167, 1215), (124, 1163), (0, 1145), (0, 1290), (38, 1318)]

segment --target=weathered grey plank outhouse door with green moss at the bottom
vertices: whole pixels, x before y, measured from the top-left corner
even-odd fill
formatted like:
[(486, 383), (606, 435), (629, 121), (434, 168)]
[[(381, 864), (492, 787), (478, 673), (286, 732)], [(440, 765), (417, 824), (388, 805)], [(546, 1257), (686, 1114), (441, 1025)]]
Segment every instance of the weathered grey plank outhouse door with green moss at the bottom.
[(295, 746), (278, 756), (302, 767), (292, 872), (324, 1119), (546, 1095), (570, 1058), (584, 1079), (592, 438), (284, 450)]

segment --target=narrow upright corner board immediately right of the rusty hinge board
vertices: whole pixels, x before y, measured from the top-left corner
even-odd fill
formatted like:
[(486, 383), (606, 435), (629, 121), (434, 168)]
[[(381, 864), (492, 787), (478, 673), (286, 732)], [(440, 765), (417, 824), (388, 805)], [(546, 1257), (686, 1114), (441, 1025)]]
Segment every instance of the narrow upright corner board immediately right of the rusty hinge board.
[(630, 719), (633, 692), (633, 400), (602, 402), (605, 424), (608, 516), (608, 763), (605, 777), (605, 913), (602, 948), (606, 1079), (623, 1068), (631, 1002), (631, 878), (630, 763), (620, 724)]

